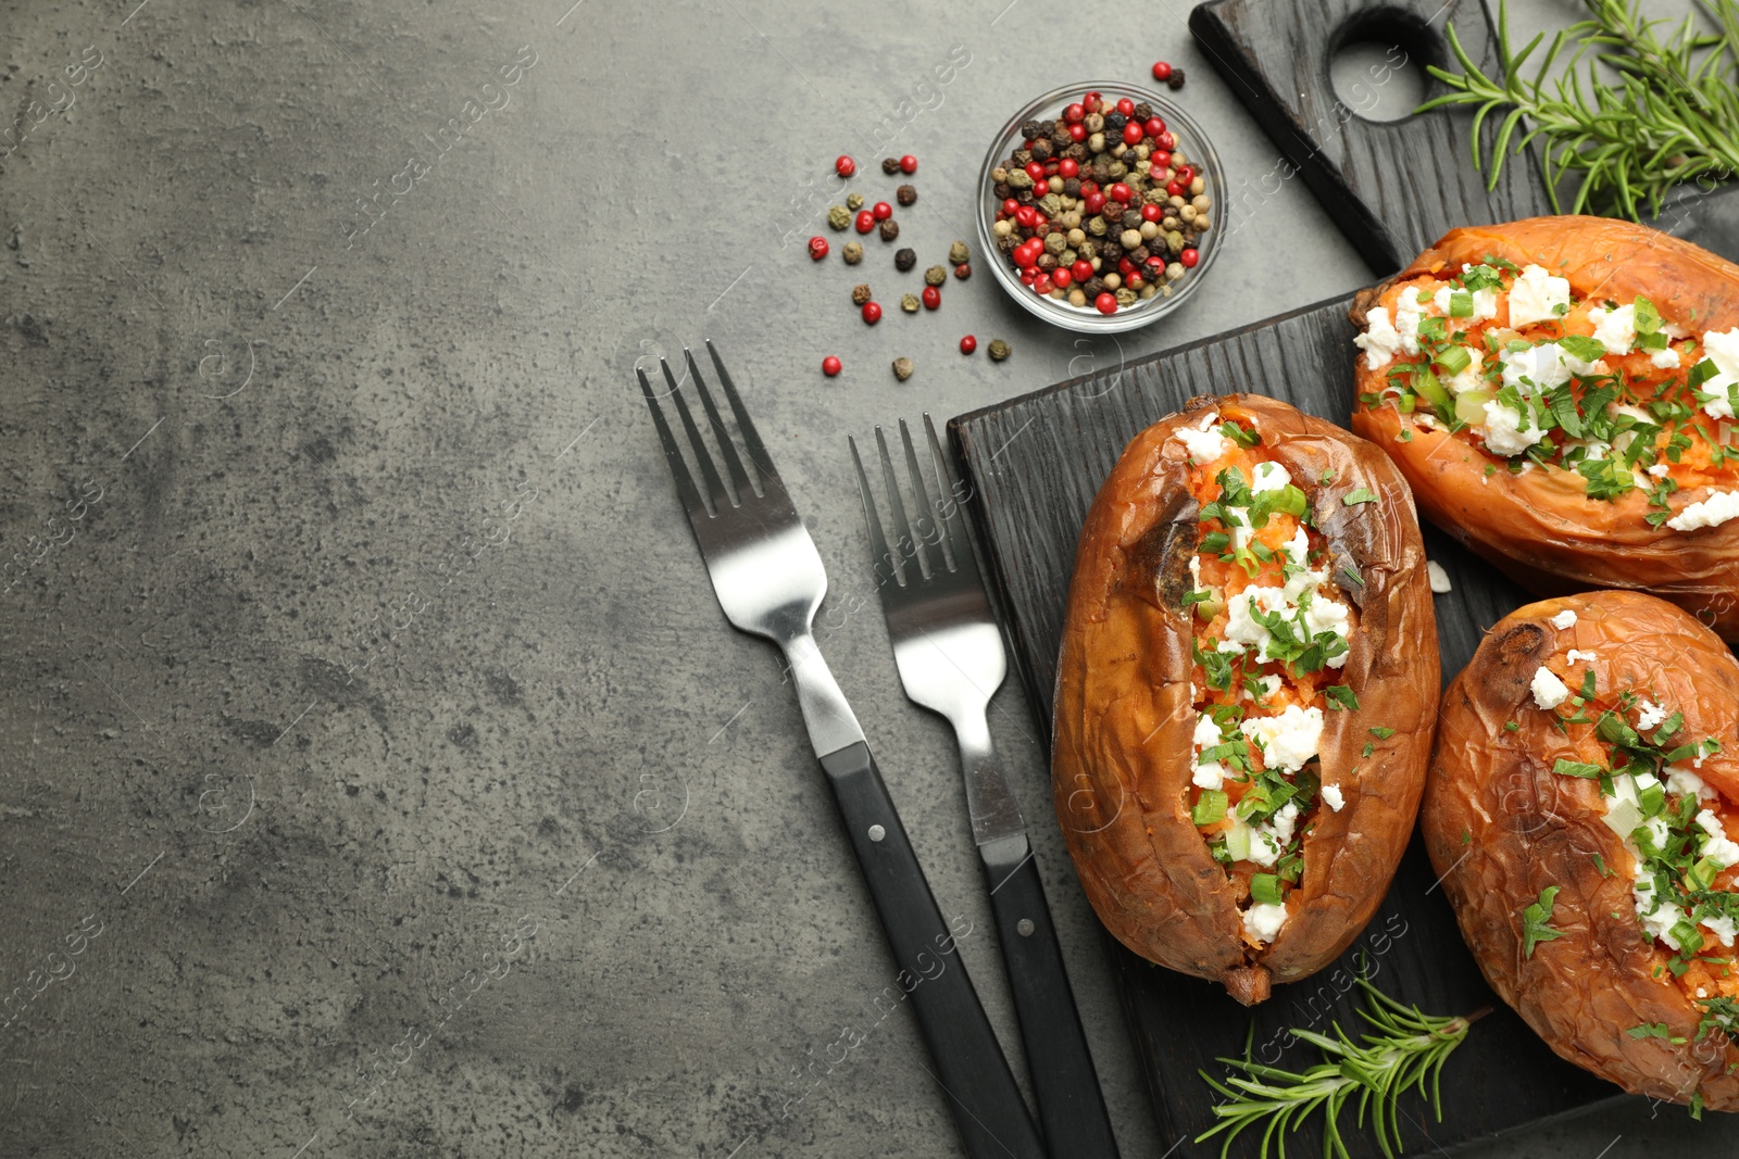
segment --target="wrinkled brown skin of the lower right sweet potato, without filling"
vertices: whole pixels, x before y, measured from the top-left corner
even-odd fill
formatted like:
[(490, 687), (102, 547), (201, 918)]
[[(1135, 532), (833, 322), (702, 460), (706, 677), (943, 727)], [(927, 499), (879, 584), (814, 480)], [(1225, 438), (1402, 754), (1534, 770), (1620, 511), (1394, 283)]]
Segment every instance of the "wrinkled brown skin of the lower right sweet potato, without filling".
[[(1574, 610), (1569, 629), (1551, 617)], [(1551, 772), (1562, 745), (1529, 683), (1553, 655), (1595, 652), (1602, 688), (1654, 688), (1685, 714), (1685, 735), (1716, 737), (1697, 770), (1727, 792), (1739, 784), (1739, 664), (1689, 613), (1654, 596), (1598, 591), (1532, 603), (1485, 636), (1450, 683), (1419, 829), (1461, 933), (1487, 982), (1551, 1050), (1633, 1095), (1739, 1110), (1739, 1050), (1720, 1032), (1696, 1041), (1701, 1011), (1664, 970), (1631, 902), (1633, 858), (1602, 822), (1598, 782)], [(1516, 721), (1516, 730), (1506, 730)], [(1610, 871), (1602, 876), (1598, 853)], [(1522, 956), (1523, 911), (1560, 886), (1551, 924), (1563, 937)], [(1631, 1037), (1666, 1023), (1661, 1037)]]

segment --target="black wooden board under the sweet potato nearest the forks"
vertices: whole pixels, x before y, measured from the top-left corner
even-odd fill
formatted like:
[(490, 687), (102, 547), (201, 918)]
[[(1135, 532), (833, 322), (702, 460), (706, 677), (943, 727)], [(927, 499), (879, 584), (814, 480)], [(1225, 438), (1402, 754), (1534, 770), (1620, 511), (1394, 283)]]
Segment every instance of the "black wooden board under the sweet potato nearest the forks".
[[(1229, 391), (1271, 394), (1344, 426), (1356, 354), (1346, 318), (1349, 301), (1309, 306), (948, 424), (972, 483), (979, 542), (998, 589), (1016, 669), (1045, 735), (1075, 544), (1087, 507), (1123, 447), (1189, 396)], [(1447, 679), (1468, 662), (1483, 631), (1527, 596), (1433, 528), (1426, 528), (1426, 549), (1454, 586), (1435, 601)], [(1442, 1123), (1417, 1098), (1403, 1102), (1402, 1131), (1410, 1152), (1490, 1138), (1617, 1096), (1617, 1088), (1558, 1060), (1490, 992), (1435, 883), (1436, 874), (1416, 841), (1355, 949), (1313, 978), (1275, 987), (1273, 997), (1254, 1010), (1238, 1006), (1214, 983), (1137, 957), (1106, 935), (1165, 1143), (1193, 1140), (1212, 1126), (1216, 1096), (1196, 1072), (1223, 1076), (1226, 1069), (1216, 1056), (1240, 1055), (1252, 1027), (1266, 1062), (1275, 1062), (1289, 1027), (1325, 1030), (1339, 1022), (1353, 1030), (1360, 1001), (1349, 978), (1360, 949), (1374, 963), (1377, 985), (1403, 1003), (1428, 1013), (1492, 1008), (1443, 1072)], [(1290, 1044), (1280, 1056), (1282, 1065), (1316, 1062), (1315, 1048), (1304, 1044)], [(1259, 1135), (1247, 1131), (1231, 1154), (1256, 1156), (1257, 1142)], [(1179, 1154), (1212, 1154), (1207, 1147), (1184, 1143)], [(1289, 1152), (1299, 1156), (1320, 1154), (1320, 1147), (1315, 1126), (1289, 1140)], [(1360, 1159), (1381, 1154), (1374, 1136), (1356, 1131), (1348, 1149)]]

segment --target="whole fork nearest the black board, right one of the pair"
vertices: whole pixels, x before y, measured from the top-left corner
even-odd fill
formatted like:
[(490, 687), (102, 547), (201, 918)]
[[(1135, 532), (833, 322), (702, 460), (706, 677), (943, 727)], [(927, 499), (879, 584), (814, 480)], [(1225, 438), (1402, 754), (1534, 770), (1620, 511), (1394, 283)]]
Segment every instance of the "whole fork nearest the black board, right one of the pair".
[(965, 493), (949, 480), (930, 415), (923, 415), (923, 427), (936, 471), (934, 500), (918, 466), (918, 452), (911, 445), (911, 431), (904, 419), (899, 422), (916, 520), (906, 518), (887, 440), (882, 427), (875, 431), (894, 520), (892, 547), (882, 528), (857, 443), (847, 440), (863, 492), (894, 662), (906, 695), (946, 716), (960, 742), (972, 841), (984, 865), (984, 884), (996, 916), (996, 935), (1009, 971), (1009, 989), (1014, 992), (1014, 1010), (1021, 1020), (1021, 1043), (1026, 1046), (1045, 1140), (1054, 1156), (1115, 1159), (1116, 1138), (1063, 968), (1050, 907), (1026, 839), (1021, 808), (991, 747), (984, 716), (991, 693), (1009, 672), (1002, 631), (991, 613), (960, 514)]

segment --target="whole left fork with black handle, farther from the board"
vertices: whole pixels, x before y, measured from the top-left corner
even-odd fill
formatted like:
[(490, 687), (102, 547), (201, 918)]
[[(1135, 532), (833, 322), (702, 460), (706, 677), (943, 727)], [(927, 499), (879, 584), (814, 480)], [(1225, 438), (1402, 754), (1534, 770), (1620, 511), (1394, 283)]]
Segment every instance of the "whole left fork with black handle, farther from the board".
[(972, 1159), (1043, 1159), (1043, 1145), (1014, 1083), (1014, 1072), (1009, 1070), (956, 952), (956, 938), (970, 933), (970, 928), (951, 930), (943, 921), (923, 867), (918, 865), (882, 773), (864, 744), (863, 728), (816, 646), (816, 608), (828, 591), (828, 573), (821, 566), (816, 542), (791, 506), (718, 351), (711, 342), (706, 351), (741, 431), (741, 455), (713, 405), (694, 354), (683, 351), (683, 358), (718, 441), (729, 487), (720, 478), (670, 363), (659, 360), (659, 367), (706, 483), (710, 506), (683, 464), (682, 448), (664, 421), (652, 382), (645, 370), (636, 368), (636, 374), (718, 605), (739, 629), (765, 636), (784, 652), (809, 738), (828, 773), (840, 818), (899, 968), (899, 990), (887, 987), (883, 994), (894, 992), (890, 1003), (911, 997), (923, 1041), (936, 1060), (934, 1077), (948, 1093), (948, 1109), (967, 1154)]

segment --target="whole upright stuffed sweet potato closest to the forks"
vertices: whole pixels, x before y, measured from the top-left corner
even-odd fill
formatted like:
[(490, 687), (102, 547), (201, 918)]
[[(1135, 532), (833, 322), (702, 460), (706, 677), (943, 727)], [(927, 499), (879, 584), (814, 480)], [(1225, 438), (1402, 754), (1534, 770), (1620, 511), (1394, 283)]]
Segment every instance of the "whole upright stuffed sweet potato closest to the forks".
[(1125, 448), (1082, 530), (1052, 792), (1104, 924), (1242, 1003), (1334, 961), (1424, 782), (1436, 620), (1379, 450), (1256, 394)]

